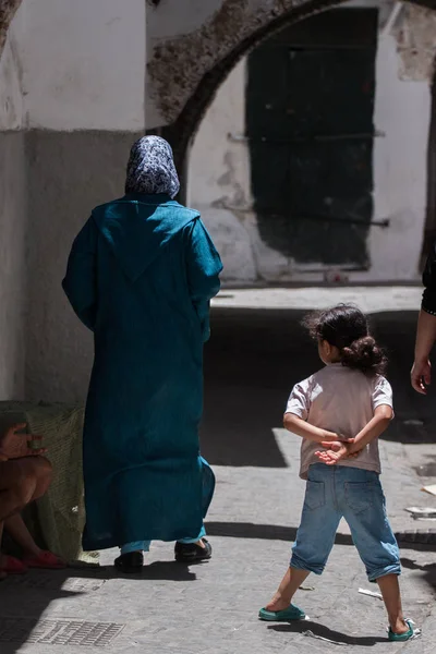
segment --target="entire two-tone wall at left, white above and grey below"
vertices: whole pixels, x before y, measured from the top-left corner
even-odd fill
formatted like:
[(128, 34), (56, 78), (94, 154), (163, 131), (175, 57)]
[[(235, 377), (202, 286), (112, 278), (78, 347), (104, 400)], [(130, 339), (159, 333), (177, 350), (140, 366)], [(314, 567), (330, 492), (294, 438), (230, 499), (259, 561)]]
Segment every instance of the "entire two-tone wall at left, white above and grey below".
[(86, 393), (92, 339), (60, 284), (90, 209), (123, 193), (145, 129), (145, 36), (144, 0), (129, 11), (26, 0), (12, 21), (0, 60), (0, 399)]

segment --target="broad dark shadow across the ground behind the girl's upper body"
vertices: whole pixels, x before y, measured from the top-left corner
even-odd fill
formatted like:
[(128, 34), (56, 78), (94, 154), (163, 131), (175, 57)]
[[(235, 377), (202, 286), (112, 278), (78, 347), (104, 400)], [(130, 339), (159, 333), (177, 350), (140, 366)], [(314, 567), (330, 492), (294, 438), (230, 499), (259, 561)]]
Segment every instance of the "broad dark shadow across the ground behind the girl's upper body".
[[(320, 366), (316, 347), (301, 327), (305, 312), (214, 308), (205, 351), (202, 450), (219, 465), (284, 468), (272, 434), (280, 427), (292, 386)], [(436, 411), (410, 386), (416, 312), (374, 314), (374, 332), (387, 349), (396, 420), (384, 438), (434, 443)], [(432, 471), (436, 470), (435, 462)]]

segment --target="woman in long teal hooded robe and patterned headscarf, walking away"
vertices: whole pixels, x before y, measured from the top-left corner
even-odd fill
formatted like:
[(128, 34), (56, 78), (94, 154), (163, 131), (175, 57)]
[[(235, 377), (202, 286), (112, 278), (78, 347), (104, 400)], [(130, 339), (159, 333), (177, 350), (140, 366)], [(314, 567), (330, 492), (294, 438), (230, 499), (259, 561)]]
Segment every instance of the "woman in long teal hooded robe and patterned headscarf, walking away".
[(222, 265), (197, 211), (174, 199), (172, 150), (134, 144), (125, 195), (95, 208), (63, 289), (94, 332), (84, 426), (86, 550), (120, 546), (137, 571), (152, 540), (209, 558), (203, 518), (215, 477), (199, 455), (203, 343)]

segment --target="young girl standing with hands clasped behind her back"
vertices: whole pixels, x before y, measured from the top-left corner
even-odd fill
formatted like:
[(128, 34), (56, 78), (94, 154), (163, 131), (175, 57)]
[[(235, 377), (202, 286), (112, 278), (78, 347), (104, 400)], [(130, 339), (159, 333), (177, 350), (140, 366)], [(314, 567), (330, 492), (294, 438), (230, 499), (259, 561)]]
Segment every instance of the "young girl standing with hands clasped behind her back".
[(305, 617), (292, 597), (311, 572), (322, 574), (343, 517), (370, 581), (380, 588), (389, 640), (409, 640), (414, 630), (402, 615), (400, 555), (378, 479), (377, 440), (393, 417), (392, 390), (383, 376), (387, 360), (354, 306), (313, 314), (305, 325), (325, 367), (293, 388), (284, 427), (303, 438), (300, 476), (307, 480), (306, 494), (290, 567), (259, 618)]

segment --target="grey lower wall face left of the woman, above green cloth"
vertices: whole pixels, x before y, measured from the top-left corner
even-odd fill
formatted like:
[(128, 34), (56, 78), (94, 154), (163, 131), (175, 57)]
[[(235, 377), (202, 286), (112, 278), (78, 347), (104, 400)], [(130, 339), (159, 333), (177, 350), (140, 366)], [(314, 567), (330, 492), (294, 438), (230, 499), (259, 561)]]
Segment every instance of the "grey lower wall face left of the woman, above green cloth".
[(61, 281), (74, 237), (98, 204), (124, 192), (125, 164), (137, 134), (28, 134), (28, 316), (26, 398), (82, 400), (93, 342), (68, 304)]

